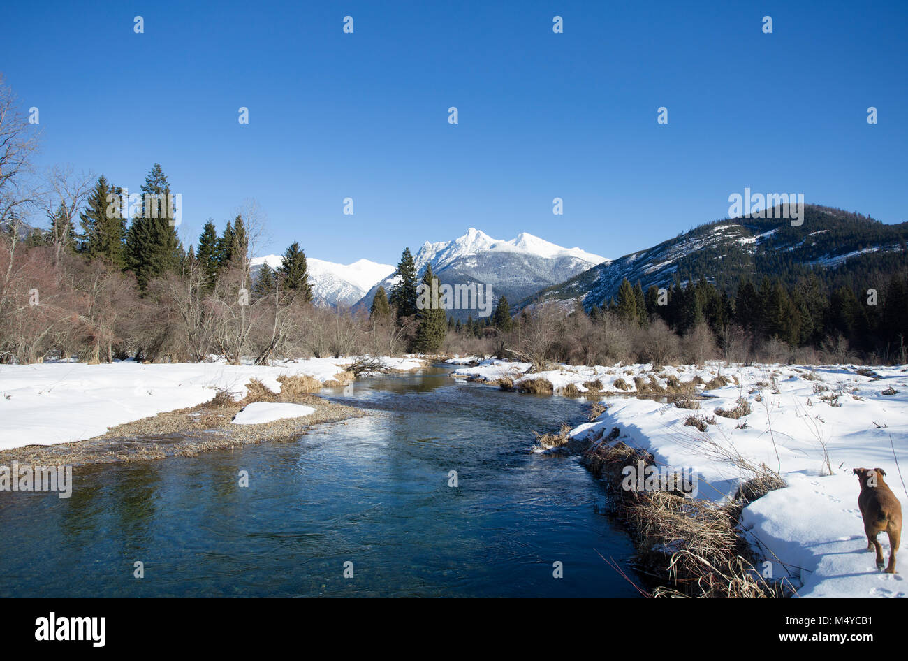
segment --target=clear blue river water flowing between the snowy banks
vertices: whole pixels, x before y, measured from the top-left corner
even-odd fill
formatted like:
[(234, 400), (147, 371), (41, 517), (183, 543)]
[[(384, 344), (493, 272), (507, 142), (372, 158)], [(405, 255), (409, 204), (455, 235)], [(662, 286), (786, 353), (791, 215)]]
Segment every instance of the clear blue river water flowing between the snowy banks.
[(0, 493), (0, 597), (637, 595), (599, 555), (631, 573), (627, 535), (596, 511), (604, 490), (577, 457), (528, 451), (532, 430), (585, 421), (586, 402), (439, 367), (321, 394), (370, 415), (76, 467), (68, 499)]

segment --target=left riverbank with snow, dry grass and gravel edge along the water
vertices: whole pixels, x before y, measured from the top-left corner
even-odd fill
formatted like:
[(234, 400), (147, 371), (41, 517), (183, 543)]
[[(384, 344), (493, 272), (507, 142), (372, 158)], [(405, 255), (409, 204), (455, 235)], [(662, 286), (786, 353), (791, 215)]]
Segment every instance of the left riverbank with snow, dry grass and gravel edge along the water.
[[(269, 366), (131, 360), (0, 366), (0, 462), (160, 459), (291, 435), (358, 414), (311, 395), (352, 381), (353, 363), (342, 358), (273, 361)], [(416, 358), (381, 358), (375, 367), (403, 372), (424, 366)], [(304, 419), (231, 426), (244, 404), (262, 400), (315, 411)]]

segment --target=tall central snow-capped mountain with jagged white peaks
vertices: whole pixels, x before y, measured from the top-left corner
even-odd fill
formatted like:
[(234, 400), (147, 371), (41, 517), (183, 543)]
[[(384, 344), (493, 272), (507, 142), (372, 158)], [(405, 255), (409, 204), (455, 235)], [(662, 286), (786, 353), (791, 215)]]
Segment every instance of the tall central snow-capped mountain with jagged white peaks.
[[(527, 232), (502, 241), (472, 227), (453, 241), (423, 243), (413, 260), (419, 275), (431, 263), (442, 283), (488, 285), (493, 300), (506, 296), (512, 302), (607, 261), (600, 255), (580, 248), (562, 248)], [(376, 283), (356, 307), (368, 310), (379, 285), (390, 292), (393, 283), (394, 276)], [(470, 312), (451, 314), (466, 319)], [(472, 314), (476, 316), (475, 311)]]

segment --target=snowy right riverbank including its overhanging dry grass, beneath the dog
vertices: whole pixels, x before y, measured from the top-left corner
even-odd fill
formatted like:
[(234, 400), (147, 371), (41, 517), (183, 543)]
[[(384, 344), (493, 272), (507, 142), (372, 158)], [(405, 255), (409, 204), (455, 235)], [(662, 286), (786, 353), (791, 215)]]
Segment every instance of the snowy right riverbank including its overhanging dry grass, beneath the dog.
[[(656, 587), (681, 594), (908, 596), (903, 578), (883, 574), (867, 553), (854, 477), (854, 469), (905, 473), (906, 365), (707, 362), (538, 372), (487, 360), (455, 376), (489, 384), (508, 377), (509, 388), (536, 396), (594, 394), (607, 410), (575, 429), (539, 436), (538, 451), (592, 453), (587, 460), (598, 469), (616, 459), (618, 469), (643, 461), (637, 474), (680, 472), (693, 483), (694, 498), (685, 498), (671, 480), (635, 489), (622, 487), (617, 478), (627, 476), (620, 471), (605, 476), (618, 516), (639, 542), (642, 576), (652, 572)], [(532, 385), (521, 388), (525, 382)], [(614, 428), (618, 436), (602, 441)], [(636, 459), (623, 459), (628, 451)], [(908, 488), (891, 481), (908, 507)], [(888, 555), (888, 539), (879, 541)]]

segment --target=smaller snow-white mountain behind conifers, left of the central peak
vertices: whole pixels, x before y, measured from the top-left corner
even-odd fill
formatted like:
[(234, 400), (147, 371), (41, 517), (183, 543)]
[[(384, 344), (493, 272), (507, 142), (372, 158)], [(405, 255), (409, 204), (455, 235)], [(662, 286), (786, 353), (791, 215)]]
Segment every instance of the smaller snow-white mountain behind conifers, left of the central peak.
[[(267, 263), (272, 269), (281, 266), (281, 255), (266, 255), (251, 260), (252, 277), (254, 278), (262, 264)], [(323, 306), (351, 306), (366, 295), (376, 282), (383, 280), (394, 272), (390, 264), (375, 261), (357, 260), (351, 264), (337, 264), (333, 261), (306, 258), (309, 270), (309, 284), (312, 288), (312, 301)]]

